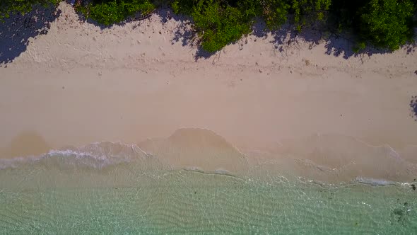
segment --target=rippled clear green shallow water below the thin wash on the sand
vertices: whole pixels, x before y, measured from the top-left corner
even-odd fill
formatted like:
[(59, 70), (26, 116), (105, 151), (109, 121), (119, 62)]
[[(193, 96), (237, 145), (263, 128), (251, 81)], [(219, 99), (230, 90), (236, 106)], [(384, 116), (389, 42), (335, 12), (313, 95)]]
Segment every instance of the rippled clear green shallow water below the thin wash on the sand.
[(417, 231), (417, 191), (410, 185), (204, 173), (170, 168), (132, 147), (117, 153), (111, 162), (73, 151), (8, 162), (0, 170), (0, 234)]

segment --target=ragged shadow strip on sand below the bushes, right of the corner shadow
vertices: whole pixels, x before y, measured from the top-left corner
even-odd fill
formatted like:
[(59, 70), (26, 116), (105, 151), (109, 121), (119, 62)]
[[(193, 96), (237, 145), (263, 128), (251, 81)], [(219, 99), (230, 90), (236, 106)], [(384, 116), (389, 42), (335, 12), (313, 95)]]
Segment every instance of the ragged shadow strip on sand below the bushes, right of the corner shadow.
[[(177, 26), (174, 30), (174, 36), (171, 38), (172, 45), (176, 42), (180, 42), (183, 47), (190, 47), (190, 50), (196, 49), (194, 54), (194, 59), (197, 61), (199, 59), (209, 59), (213, 55), (219, 56), (221, 50), (218, 52), (207, 52), (201, 47), (201, 39), (198, 37), (196, 30), (192, 27), (193, 21), (190, 16), (184, 16), (173, 13), (170, 7), (164, 6), (156, 8), (155, 11), (147, 15), (142, 16), (140, 12), (136, 13), (135, 16), (127, 18), (125, 21), (120, 23), (114, 23), (112, 25), (102, 25), (91, 18), (85, 18), (82, 13), (78, 13), (80, 21), (86, 21), (87, 23), (92, 23), (100, 29), (111, 28), (114, 25), (124, 25), (126, 23), (137, 21), (138, 23), (134, 28), (139, 27), (142, 23), (146, 23), (151, 15), (157, 15), (160, 18), (160, 22), (165, 24), (168, 21), (174, 20), (177, 23)], [(278, 52), (281, 52), (283, 56), (286, 56), (288, 49), (298, 48), (301, 49), (301, 42), (308, 45), (308, 48), (311, 50), (313, 47), (324, 43), (324, 54), (331, 55), (334, 57), (343, 57), (348, 59), (350, 57), (360, 57), (362, 59), (363, 55), (373, 55), (373, 54), (385, 54), (391, 53), (389, 50), (378, 50), (374, 47), (366, 47), (364, 50), (361, 50), (359, 53), (355, 52), (354, 47), (357, 42), (351, 34), (344, 33), (334, 33), (332, 32), (329, 26), (324, 27), (323, 25), (313, 26), (310, 28), (305, 28), (301, 32), (294, 30), (295, 26), (291, 24), (285, 24), (278, 30), (269, 30), (266, 28), (266, 24), (262, 19), (256, 19), (254, 25), (252, 25), (251, 35), (256, 36), (257, 38), (270, 38), (272, 36), (271, 45)], [(242, 37), (245, 38), (245, 35)], [(229, 45), (240, 43), (240, 40), (236, 42), (230, 42)], [(244, 45), (242, 45), (243, 47)], [(416, 44), (404, 45), (408, 53), (414, 52)]]

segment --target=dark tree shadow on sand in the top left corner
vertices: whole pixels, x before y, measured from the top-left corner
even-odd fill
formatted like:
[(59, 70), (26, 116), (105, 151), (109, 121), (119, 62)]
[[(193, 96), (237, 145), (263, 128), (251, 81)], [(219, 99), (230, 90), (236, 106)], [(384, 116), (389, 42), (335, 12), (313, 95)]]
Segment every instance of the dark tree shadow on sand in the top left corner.
[(35, 6), (25, 16), (12, 15), (0, 22), (0, 66), (13, 62), (29, 44), (29, 38), (47, 34), (50, 25), (61, 14), (56, 6)]

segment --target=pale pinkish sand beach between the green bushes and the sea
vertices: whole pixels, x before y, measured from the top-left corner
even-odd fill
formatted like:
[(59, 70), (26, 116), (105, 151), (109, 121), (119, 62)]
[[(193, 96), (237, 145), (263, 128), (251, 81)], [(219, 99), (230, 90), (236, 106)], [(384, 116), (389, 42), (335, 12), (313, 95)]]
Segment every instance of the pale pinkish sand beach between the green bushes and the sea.
[[(45, 35), (29, 38), (13, 62), (0, 62), (1, 158), (101, 141), (156, 151), (176, 130), (201, 128), (212, 132), (179, 138), (235, 148), (249, 161), (285, 156), (344, 167), (346, 177), (416, 176), (412, 48), (349, 55), (353, 45), (342, 38), (278, 44), (274, 35), (249, 35), (205, 57), (179, 30), (185, 21), (163, 10), (101, 29), (79, 21), (69, 4), (59, 9)], [(195, 156), (180, 155), (186, 159), (172, 162), (199, 166)]]

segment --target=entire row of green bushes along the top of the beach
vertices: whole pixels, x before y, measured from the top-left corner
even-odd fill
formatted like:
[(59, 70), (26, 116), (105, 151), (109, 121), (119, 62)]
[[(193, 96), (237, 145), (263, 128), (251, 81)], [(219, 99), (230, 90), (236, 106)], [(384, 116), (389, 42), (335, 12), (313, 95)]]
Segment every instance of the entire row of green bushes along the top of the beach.
[[(10, 13), (26, 13), (33, 4), (57, 1), (2, 0), (0, 20)], [(413, 39), (417, 13), (417, 0), (91, 0), (77, 4), (76, 9), (86, 18), (112, 25), (135, 14), (145, 16), (161, 5), (192, 18), (207, 52), (221, 50), (250, 33), (255, 18), (262, 18), (269, 30), (287, 22), (298, 31), (311, 25), (325, 25), (339, 33), (348, 30), (358, 40), (356, 52), (367, 45), (397, 50)]]

